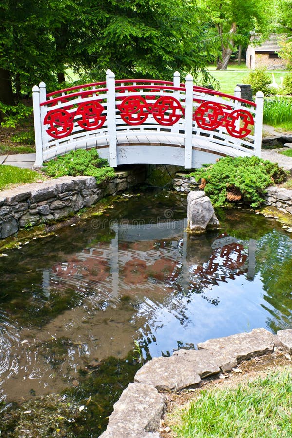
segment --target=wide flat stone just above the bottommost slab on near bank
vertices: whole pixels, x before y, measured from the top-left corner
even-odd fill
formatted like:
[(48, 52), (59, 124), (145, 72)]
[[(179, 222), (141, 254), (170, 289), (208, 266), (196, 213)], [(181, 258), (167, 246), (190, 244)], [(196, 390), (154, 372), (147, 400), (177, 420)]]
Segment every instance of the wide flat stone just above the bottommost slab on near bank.
[(196, 366), (180, 356), (155, 357), (136, 373), (134, 382), (147, 383), (158, 390), (180, 390), (201, 381)]

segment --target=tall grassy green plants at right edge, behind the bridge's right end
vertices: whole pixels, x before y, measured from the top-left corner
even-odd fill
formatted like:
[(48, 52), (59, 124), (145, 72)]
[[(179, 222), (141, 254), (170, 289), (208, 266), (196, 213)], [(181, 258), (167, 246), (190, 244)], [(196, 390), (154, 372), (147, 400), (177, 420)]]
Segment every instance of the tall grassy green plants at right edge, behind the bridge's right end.
[(292, 98), (265, 99), (263, 122), (275, 128), (292, 131)]

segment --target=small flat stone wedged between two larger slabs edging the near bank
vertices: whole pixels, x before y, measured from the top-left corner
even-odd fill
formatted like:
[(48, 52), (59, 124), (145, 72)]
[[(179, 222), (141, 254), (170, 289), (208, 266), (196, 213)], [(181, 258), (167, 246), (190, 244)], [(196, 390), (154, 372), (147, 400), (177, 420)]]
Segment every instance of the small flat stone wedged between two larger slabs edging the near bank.
[(174, 356), (181, 357), (187, 362), (191, 362), (194, 366), (196, 373), (199, 374), (201, 379), (212, 374), (217, 374), (221, 370), (216, 363), (215, 356), (208, 350), (185, 350), (180, 349), (173, 353)]

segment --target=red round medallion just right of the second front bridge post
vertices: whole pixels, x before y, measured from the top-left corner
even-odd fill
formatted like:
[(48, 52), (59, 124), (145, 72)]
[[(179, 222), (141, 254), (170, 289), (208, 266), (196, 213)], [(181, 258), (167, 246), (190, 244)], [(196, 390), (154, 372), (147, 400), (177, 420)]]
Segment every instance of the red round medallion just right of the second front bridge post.
[(141, 125), (149, 115), (148, 104), (142, 96), (126, 97), (123, 102), (118, 105), (121, 118), (128, 125)]

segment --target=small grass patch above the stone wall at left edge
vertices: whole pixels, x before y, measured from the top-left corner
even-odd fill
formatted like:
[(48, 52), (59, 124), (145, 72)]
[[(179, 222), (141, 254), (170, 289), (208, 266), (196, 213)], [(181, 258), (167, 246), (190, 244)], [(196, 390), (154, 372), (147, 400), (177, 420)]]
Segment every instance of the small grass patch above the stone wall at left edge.
[(12, 184), (35, 183), (39, 179), (42, 176), (34, 170), (0, 165), (0, 190), (9, 188)]

